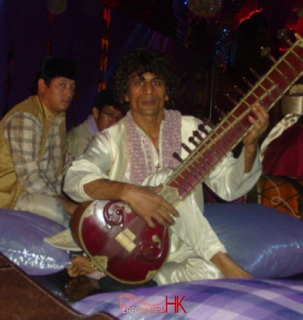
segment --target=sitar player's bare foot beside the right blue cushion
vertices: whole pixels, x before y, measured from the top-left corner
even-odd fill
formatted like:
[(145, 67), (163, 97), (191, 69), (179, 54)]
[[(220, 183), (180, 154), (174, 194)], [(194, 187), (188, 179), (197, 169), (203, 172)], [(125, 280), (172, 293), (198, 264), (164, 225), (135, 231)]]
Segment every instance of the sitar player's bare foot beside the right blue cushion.
[(225, 278), (254, 278), (250, 273), (241, 268), (228, 254), (218, 252), (211, 261), (220, 269), (225, 275)]

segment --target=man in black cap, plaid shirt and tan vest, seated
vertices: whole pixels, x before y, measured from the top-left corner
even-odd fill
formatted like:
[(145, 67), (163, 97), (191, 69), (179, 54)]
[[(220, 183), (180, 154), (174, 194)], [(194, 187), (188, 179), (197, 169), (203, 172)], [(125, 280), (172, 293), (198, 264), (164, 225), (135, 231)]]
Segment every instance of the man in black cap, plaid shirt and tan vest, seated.
[(31, 211), (68, 225), (75, 203), (61, 195), (66, 163), (66, 110), (75, 94), (77, 64), (47, 57), (36, 94), (0, 122), (0, 208)]

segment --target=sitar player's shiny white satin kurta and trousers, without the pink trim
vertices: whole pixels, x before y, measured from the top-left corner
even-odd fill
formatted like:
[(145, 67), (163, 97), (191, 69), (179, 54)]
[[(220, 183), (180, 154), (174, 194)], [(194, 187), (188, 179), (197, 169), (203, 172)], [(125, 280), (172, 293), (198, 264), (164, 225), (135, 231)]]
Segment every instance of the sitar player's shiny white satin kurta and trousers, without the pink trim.
[[(197, 130), (200, 121), (194, 117), (182, 118), (182, 141), (187, 143), (192, 131)], [(161, 131), (162, 131), (161, 126)], [(142, 133), (142, 131), (137, 128)], [(145, 138), (147, 138), (145, 136)], [(160, 143), (162, 143), (160, 134)], [(188, 144), (188, 143), (187, 143)], [(154, 171), (162, 167), (162, 150), (159, 155), (154, 149), (152, 161)], [(186, 158), (183, 150), (181, 157)], [(256, 184), (261, 174), (261, 162), (256, 158), (254, 167), (248, 174), (244, 172), (244, 154), (238, 159), (230, 153), (209, 174), (205, 183), (218, 196), (227, 201), (233, 201), (244, 196)], [(165, 182), (171, 170), (162, 170), (159, 174), (149, 177), (144, 184), (159, 185)], [(111, 126), (103, 134), (97, 134), (89, 144), (82, 157), (73, 162), (69, 168), (64, 183), (64, 191), (75, 201), (92, 201), (83, 186), (95, 179), (112, 179), (119, 182), (130, 182), (130, 161), (128, 155), (127, 135), (124, 121)], [(178, 206), (179, 218), (175, 218), (175, 225), (171, 227), (171, 249), (168, 261), (156, 275), (159, 285), (199, 279), (222, 278), (221, 271), (210, 261), (218, 251), (225, 252), (214, 230), (204, 218), (204, 201), (202, 184)]]

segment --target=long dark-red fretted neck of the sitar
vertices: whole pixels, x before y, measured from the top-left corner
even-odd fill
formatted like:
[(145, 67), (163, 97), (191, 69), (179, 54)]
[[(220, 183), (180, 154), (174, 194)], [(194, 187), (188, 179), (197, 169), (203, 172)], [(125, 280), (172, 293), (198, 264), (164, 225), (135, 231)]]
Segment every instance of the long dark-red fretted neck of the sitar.
[[(267, 110), (302, 76), (303, 40), (298, 40), (276, 64), (254, 85), (247, 95), (200, 141), (188, 157), (166, 181), (166, 189), (177, 189), (180, 201), (188, 196), (197, 184), (204, 181), (216, 165), (252, 130), (249, 115), (254, 117), (252, 105), (259, 100)], [(171, 188), (172, 187), (172, 188)], [(173, 201), (175, 203), (176, 201)]]

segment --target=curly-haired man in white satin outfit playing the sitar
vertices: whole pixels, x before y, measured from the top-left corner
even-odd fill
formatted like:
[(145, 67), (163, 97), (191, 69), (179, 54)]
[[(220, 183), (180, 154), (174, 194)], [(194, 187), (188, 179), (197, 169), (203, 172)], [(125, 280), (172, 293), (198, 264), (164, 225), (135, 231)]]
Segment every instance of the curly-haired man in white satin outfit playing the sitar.
[[(118, 200), (130, 206), (149, 227), (171, 229), (171, 250), (154, 280), (159, 285), (214, 278), (251, 277), (228, 254), (204, 218), (202, 185), (178, 208), (159, 195), (161, 182), (188, 153), (181, 148), (199, 119), (170, 110), (178, 95), (178, 77), (161, 52), (137, 49), (118, 65), (115, 93), (130, 111), (114, 126), (97, 134), (81, 158), (68, 168), (64, 191), (75, 201)], [(261, 174), (258, 141), (268, 126), (268, 114), (259, 103), (249, 116), (254, 128), (244, 138), (239, 158), (229, 153), (205, 182), (221, 198), (232, 201), (246, 194)], [(153, 176), (158, 170), (157, 176)], [(152, 177), (150, 177), (152, 176)], [(145, 178), (149, 177), (149, 181)], [(142, 183), (144, 185), (142, 185)], [(100, 267), (101, 268), (101, 267)], [(82, 274), (73, 267), (72, 276)]]

